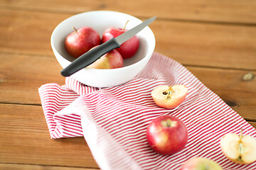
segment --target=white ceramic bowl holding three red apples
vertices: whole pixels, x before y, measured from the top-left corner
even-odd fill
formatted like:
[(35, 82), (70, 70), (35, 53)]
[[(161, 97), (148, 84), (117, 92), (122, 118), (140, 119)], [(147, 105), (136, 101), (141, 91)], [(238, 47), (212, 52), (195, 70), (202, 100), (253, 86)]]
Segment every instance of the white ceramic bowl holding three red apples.
[[(90, 11), (79, 13), (65, 19), (54, 30), (50, 38), (50, 45), (60, 65), (65, 68), (74, 59), (65, 50), (64, 41), (66, 36), (75, 28), (90, 26), (102, 37), (105, 29), (110, 27), (123, 28), (125, 23), (127, 29), (131, 29), (142, 23), (138, 18), (126, 13), (115, 11)], [(110, 87), (124, 84), (133, 79), (149, 62), (156, 40), (154, 33), (149, 27), (144, 28), (137, 34), (139, 38), (139, 50), (133, 57), (124, 60), (124, 67), (118, 69), (90, 69), (84, 68), (73, 74), (73, 77), (82, 84), (95, 87)]]

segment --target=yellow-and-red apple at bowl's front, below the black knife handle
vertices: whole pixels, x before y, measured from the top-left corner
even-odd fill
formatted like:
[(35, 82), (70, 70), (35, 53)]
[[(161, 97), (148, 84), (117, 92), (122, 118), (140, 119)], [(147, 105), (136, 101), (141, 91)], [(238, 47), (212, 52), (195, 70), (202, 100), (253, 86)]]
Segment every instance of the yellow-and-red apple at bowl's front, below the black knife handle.
[[(98, 46), (98, 45), (97, 45)], [(97, 47), (95, 46), (95, 47)], [(92, 48), (95, 48), (92, 47)], [(111, 50), (98, 60), (87, 66), (92, 69), (117, 69), (124, 66), (124, 60), (117, 50)]]

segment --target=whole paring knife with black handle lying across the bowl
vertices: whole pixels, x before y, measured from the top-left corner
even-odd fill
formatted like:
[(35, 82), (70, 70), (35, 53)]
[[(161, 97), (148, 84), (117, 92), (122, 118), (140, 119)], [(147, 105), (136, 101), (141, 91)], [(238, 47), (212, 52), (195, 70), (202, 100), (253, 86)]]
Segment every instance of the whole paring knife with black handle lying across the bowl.
[(118, 37), (112, 38), (107, 42), (103, 43), (102, 45), (99, 45), (95, 48), (92, 48), (92, 50), (85, 52), (85, 54), (81, 55), (76, 60), (71, 62), (68, 67), (65, 67), (65, 69), (63, 69), (60, 74), (63, 75), (63, 77), (69, 77), (72, 74), (75, 74), (75, 72), (78, 72), (80, 69), (83, 69), (95, 62), (97, 59), (102, 57), (102, 55), (105, 55), (107, 52), (110, 52), (111, 50), (120, 47), (123, 42), (132, 38), (134, 35), (139, 33), (139, 31), (143, 30), (146, 26), (149, 26), (149, 24), (152, 23), (155, 19), (156, 16), (149, 18), (146, 21), (140, 23), (138, 26), (135, 26), (134, 28), (122, 33)]

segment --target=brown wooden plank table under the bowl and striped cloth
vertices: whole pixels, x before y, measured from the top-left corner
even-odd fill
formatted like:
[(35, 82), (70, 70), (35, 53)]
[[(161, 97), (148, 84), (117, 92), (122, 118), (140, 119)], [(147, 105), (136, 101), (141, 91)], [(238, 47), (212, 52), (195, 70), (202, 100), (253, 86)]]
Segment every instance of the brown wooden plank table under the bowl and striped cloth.
[(76, 13), (151, 24), (156, 52), (181, 62), (256, 127), (256, 1), (0, 1), (0, 169), (99, 169), (83, 137), (51, 140), (38, 88), (63, 85), (50, 35)]

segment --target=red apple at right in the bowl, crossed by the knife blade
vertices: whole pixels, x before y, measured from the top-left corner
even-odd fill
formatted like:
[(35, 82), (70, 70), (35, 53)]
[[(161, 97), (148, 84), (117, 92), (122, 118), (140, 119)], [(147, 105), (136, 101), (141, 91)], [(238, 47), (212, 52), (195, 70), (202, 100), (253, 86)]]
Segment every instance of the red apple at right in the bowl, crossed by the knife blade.
[[(120, 28), (110, 27), (107, 28), (103, 35), (102, 35), (102, 43), (110, 40), (111, 38), (116, 38), (117, 36), (121, 35), (122, 33), (126, 32), (127, 30), (122, 30)], [(128, 59), (134, 56), (139, 49), (139, 38), (134, 35), (132, 38), (127, 40), (126, 42), (122, 43), (117, 50), (122, 55), (123, 59)]]

